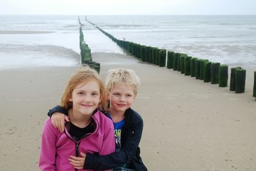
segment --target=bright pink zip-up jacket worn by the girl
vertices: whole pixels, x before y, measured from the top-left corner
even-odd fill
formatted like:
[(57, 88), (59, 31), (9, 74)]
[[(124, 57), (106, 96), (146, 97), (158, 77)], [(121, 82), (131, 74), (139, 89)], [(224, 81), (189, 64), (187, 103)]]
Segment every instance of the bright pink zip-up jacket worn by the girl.
[(92, 117), (97, 128), (91, 135), (78, 142), (72, 139), (67, 128), (65, 128), (64, 133), (60, 133), (52, 126), (51, 118), (45, 121), (39, 159), (41, 170), (75, 170), (69, 163), (68, 158), (70, 155), (76, 156), (77, 152), (78, 154), (80, 152), (99, 153), (99, 155), (108, 155), (115, 152), (112, 121), (99, 110)]

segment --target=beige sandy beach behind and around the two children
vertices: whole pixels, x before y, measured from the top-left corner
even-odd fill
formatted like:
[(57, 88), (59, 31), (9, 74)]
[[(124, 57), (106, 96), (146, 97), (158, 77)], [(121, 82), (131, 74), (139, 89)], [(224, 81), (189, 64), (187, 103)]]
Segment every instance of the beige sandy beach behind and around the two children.
[[(133, 108), (144, 120), (141, 156), (148, 170), (256, 170), (256, 101), (131, 56), (94, 53), (100, 75), (131, 68), (141, 78)], [(40, 135), (77, 67), (0, 71), (0, 170), (39, 170)], [(252, 74), (252, 70), (249, 71)], [(249, 75), (247, 73), (247, 75)], [(250, 85), (249, 85), (250, 84)]]

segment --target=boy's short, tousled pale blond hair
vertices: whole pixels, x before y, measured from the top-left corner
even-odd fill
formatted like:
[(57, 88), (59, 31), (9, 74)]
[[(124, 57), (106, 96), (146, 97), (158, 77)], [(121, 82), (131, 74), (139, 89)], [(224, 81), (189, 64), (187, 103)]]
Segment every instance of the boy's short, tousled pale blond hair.
[(140, 78), (131, 69), (117, 68), (108, 71), (106, 78), (106, 89), (109, 93), (116, 85), (124, 83), (132, 87), (134, 96), (138, 93), (138, 87), (140, 84)]

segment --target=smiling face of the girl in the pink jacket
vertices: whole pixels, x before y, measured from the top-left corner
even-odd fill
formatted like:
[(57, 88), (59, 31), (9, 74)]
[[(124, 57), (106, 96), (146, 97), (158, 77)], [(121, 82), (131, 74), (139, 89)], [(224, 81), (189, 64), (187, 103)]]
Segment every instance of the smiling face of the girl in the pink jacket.
[(100, 103), (99, 84), (94, 80), (77, 84), (69, 101), (73, 103), (74, 114), (92, 115)]

